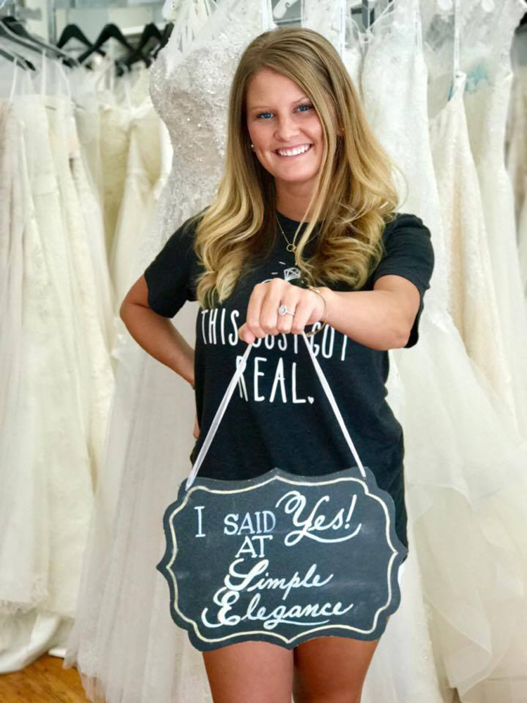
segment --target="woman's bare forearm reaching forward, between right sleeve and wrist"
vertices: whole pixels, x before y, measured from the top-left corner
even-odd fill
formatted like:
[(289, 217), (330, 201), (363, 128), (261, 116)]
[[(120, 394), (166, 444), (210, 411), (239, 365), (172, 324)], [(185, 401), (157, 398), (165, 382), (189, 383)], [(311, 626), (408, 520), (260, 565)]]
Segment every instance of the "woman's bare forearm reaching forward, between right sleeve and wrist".
[(408, 342), (408, 320), (396, 295), (387, 290), (319, 288), (327, 324), (371, 349), (398, 349)]

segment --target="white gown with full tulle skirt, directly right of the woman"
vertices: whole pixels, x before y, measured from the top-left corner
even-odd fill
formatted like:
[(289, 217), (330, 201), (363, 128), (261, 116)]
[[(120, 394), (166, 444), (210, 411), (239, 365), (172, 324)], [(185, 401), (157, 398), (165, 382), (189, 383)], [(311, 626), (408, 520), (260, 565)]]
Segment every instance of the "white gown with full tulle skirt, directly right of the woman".
[[(514, 641), (521, 633), (515, 613), (525, 609), (521, 584), (527, 562), (520, 535), (527, 525), (518, 496), (526, 489), (527, 447), (467, 356), (446, 309), (450, 280), (443, 222), (451, 216), (441, 209), (431, 155), (427, 70), (416, 9), (411, 2), (398, 2), (385, 20), (391, 31), (385, 31), (384, 22), (377, 32), (374, 27), (362, 72), (367, 115), (408, 180), (403, 209), (431, 228), (436, 253), (419, 344), (391, 354), (403, 395), (391, 385), (391, 376), (389, 399), (400, 408), (405, 432), (407, 504), (414, 527), (410, 551), (413, 546), (417, 552), (430, 606), (438, 671), (462, 700), (509, 703), (521, 697), (509, 694), (507, 675), (501, 678), (505, 669), (497, 673), (497, 666), (512, 652), (522, 661), (527, 655)], [(499, 696), (486, 698), (491, 690)]]

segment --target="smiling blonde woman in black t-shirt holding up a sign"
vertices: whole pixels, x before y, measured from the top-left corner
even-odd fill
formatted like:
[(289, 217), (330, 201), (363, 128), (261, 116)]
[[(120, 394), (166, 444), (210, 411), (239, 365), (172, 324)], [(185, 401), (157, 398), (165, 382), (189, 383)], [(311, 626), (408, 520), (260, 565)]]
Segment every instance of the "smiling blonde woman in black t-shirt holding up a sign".
[[(195, 387), (191, 460), (242, 342), (258, 347), (200, 467), (220, 479), (350, 465), (299, 340), (313, 325), (313, 352), (360, 457), (393, 497), (406, 545), (404, 445), (386, 403), (388, 349), (417, 342), (434, 254), (422, 221), (395, 213), (391, 166), (332, 45), (305, 29), (261, 34), (230, 89), (216, 198), (171, 236), (121, 316), (148, 353)], [(195, 351), (168, 319), (187, 299), (200, 302)], [(320, 637), (285, 650), (252, 641), (205, 652), (204, 664), (215, 703), (289, 703), (292, 694), (297, 703), (354, 702), (376, 645)]]

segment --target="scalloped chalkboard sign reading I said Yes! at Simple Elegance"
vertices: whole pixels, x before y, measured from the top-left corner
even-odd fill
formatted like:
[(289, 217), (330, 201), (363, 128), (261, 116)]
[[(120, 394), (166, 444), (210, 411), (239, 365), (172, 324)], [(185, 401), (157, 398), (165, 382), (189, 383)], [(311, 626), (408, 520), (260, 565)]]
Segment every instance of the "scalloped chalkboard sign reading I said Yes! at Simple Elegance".
[(244, 640), (287, 649), (321, 636), (377, 640), (400, 602), (407, 550), (367, 467), (318, 477), (275, 468), (183, 482), (164, 514), (157, 569), (198, 650)]

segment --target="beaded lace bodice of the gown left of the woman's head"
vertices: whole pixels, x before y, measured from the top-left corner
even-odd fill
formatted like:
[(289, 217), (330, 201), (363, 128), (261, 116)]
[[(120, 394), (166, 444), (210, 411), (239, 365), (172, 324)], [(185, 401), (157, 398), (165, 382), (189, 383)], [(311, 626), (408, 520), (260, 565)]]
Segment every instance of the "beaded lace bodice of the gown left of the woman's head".
[(188, 50), (169, 41), (152, 67), (150, 95), (169, 129), (174, 158), (158, 232), (143, 245), (144, 263), (212, 200), (223, 168), (230, 84), (242, 51), (270, 18), (266, 0), (225, 0)]

